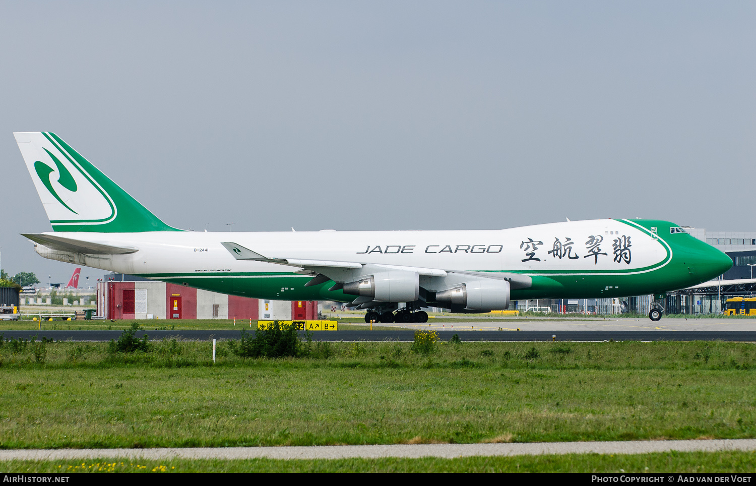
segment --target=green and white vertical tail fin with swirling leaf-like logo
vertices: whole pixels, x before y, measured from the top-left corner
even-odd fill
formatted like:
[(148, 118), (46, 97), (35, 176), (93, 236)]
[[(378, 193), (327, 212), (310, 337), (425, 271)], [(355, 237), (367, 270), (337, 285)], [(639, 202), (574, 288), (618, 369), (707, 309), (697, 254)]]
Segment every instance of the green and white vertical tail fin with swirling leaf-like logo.
[(52, 132), (15, 132), (53, 231), (181, 231), (160, 221)]

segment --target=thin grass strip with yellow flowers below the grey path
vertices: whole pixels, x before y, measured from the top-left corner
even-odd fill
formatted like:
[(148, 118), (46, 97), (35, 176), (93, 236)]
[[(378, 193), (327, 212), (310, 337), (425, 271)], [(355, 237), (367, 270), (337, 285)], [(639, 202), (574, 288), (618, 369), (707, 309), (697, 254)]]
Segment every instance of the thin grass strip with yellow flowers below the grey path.
[(8, 461), (2, 472), (753, 472), (756, 453), (463, 457), (459, 459)]

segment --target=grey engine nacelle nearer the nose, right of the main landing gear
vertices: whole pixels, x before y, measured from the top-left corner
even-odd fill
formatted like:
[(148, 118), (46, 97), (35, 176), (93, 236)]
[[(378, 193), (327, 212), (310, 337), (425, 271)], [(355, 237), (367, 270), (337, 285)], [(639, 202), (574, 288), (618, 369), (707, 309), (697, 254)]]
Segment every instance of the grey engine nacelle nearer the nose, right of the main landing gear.
[(435, 301), (452, 311), (494, 311), (510, 306), (510, 283), (486, 278), (471, 280), (435, 293)]

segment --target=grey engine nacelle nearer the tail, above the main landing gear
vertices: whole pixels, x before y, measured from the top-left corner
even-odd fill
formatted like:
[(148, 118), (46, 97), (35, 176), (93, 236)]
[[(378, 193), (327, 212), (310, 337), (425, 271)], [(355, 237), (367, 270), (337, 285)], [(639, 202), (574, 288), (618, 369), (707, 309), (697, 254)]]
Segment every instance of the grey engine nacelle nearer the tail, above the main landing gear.
[(345, 283), (342, 292), (379, 302), (415, 302), (420, 296), (420, 275), (411, 271), (380, 272)]

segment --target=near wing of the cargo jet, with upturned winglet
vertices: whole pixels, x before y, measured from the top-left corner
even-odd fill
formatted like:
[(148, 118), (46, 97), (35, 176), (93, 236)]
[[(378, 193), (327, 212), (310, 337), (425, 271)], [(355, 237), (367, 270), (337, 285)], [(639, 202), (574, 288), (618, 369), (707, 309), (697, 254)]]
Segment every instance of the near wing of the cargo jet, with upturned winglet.
[[(425, 277), (446, 277), (450, 273), (454, 274), (466, 274), (479, 278), (491, 278), (495, 280), (508, 280), (513, 288), (526, 288), (531, 286), (531, 277), (521, 274), (513, 274), (507, 272), (479, 272), (479, 271), (457, 271), (457, 270), (444, 270), (442, 268), (426, 268), (426, 267), (412, 267), (407, 265), (386, 265), (380, 263), (367, 263), (367, 262), (335, 262), (330, 260), (307, 260), (302, 258), (267, 258), (260, 255), (258, 252), (254, 252), (251, 249), (245, 248), (237, 243), (221, 243), (228, 250), (231, 255), (237, 260), (253, 260), (256, 262), (269, 262), (277, 263), (280, 265), (289, 265), (291, 267), (303, 268), (305, 271), (299, 273), (313, 274), (316, 280), (311, 282), (322, 283), (327, 280), (334, 280), (336, 283), (343, 283), (340, 276), (346, 276), (351, 270), (361, 269), (364, 265), (370, 265), (371, 268), (386, 268), (386, 270), (394, 271), (411, 271)], [(316, 275), (317, 274), (317, 275)], [(325, 275), (329, 278), (321, 278), (320, 275)], [(312, 283), (314, 284), (314, 283)]]

